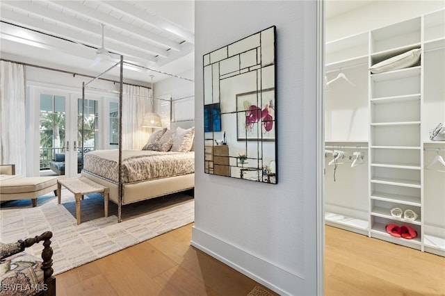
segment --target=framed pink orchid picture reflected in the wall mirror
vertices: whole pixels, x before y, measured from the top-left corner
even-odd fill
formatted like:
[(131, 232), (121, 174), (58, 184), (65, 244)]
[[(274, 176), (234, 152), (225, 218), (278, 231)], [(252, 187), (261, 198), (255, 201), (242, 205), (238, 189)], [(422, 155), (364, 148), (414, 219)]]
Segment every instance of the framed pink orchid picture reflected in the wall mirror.
[(275, 141), (275, 88), (236, 95), (236, 140)]

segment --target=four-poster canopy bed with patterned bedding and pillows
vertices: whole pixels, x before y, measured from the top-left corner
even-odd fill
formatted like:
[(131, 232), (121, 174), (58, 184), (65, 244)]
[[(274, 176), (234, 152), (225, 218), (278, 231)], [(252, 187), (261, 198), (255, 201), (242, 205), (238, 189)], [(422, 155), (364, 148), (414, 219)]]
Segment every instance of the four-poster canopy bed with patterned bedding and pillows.
[[(149, 141), (154, 141), (157, 146), (150, 147), (147, 143), (141, 151), (122, 150), (122, 69), (124, 63), (121, 56), (119, 63), (88, 83), (83, 83), (82, 86), (82, 101), (84, 101), (85, 89), (88, 88), (89, 83), (114, 67), (120, 66), (119, 149), (97, 150), (84, 154), (83, 130), (81, 141), (83, 159), (81, 175), (109, 188), (109, 199), (118, 204), (118, 222), (121, 221), (122, 206), (125, 204), (190, 190), (195, 186), (195, 152), (193, 151), (195, 123), (193, 120), (172, 122), (172, 99), (170, 99), (170, 130), (160, 129), (152, 133), (149, 138)], [(170, 74), (170, 76), (174, 75)], [(179, 76), (176, 77), (182, 79)], [(171, 151), (170, 148), (167, 149), (168, 144), (172, 146)]]

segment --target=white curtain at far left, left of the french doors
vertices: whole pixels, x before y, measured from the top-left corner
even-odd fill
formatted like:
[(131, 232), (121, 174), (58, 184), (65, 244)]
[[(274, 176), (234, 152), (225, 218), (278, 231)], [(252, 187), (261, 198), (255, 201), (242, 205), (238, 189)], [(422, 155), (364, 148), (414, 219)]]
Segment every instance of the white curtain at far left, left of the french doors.
[(25, 174), (25, 77), (23, 65), (0, 61), (1, 164)]

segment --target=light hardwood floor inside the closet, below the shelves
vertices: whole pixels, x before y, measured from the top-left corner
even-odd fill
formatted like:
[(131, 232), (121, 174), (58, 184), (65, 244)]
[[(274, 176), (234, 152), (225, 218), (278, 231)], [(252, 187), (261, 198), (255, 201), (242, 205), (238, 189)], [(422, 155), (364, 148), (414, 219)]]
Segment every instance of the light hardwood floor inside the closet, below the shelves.
[(445, 258), (327, 226), (325, 295), (445, 295)]

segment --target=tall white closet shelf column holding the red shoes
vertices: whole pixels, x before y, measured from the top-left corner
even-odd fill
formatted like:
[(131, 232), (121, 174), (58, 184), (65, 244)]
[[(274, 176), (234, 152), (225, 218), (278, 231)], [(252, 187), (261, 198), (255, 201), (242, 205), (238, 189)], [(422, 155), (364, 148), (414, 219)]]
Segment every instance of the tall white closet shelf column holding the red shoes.
[[(371, 31), (369, 63), (418, 48), (421, 17)], [(422, 237), (421, 84), (421, 63), (369, 76), (369, 236), (416, 249), (421, 249)], [(395, 207), (410, 209), (419, 217), (415, 221), (393, 217), (391, 208)], [(410, 226), (418, 236), (394, 238), (385, 229), (390, 223)]]

